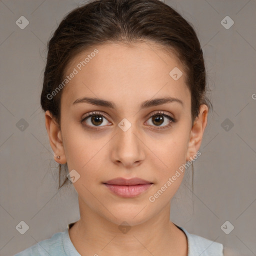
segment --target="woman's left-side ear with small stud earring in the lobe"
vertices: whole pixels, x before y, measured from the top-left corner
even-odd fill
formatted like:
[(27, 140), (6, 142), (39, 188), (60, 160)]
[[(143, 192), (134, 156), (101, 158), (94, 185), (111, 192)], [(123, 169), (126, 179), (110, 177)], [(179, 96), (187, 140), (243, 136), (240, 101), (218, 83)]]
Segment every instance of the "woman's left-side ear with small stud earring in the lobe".
[[(45, 112), (45, 127), (49, 136), (50, 146), (54, 152), (54, 160), (58, 163), (66, 163), (60, 127), (49, 110)], [(56, 158), (57, 155), (60, 156), (60, 159)]]

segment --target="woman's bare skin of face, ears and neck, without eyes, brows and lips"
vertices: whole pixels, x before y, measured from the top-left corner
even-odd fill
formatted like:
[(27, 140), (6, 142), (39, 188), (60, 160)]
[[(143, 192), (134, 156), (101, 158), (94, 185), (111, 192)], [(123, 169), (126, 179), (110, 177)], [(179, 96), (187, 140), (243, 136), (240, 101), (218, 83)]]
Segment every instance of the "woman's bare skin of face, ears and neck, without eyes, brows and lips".
[[(95, 47), (94, 47), (95, 48)], [(93, 48), (93, 49), (94, 49)], [(179, 166), (199, 150), (207, 123), (208, 107), (191, 120), (190, 92), (185, 72), (174, 54), (167, 54), (153, 42), (107, 43), (96, 47), (90, 59), (63, 88), (60, 127), (49, 111), (45, 125), (58, 163), (75, 169), (80, 178), (73, 185), (78, 193), (80, 219), (69, 229), (70, 239), (81, 255), (187, 255), (187, 239), (170, 220), (170, 199), (178, 189), (184, 172), (155, 199)], [(83, 51), (69, 63), (69, 74), (79, 61), (93, 51)], [(174, 80), (169, 72), (178, 67), (183, 75)], [(182, 100), (140, 109), (144, 100), (172, 96)], [(98, 97), (114, 102), (116, 109), (89, 103), (72, 104), (81, 97)], [(164, 111), (176, 119), (155, 124), (150, 117)], [(106, 119), (93, 125), (91, 111), (103, 112)], [(131, 127), (125, 132), (118, 123), (126, 118)], [(85, 128), (85, 124), (98, 130)], [(140, 177), (153, 185), (140, 195), (123, 198), (113, 194), (102, 182), (115, 177)], [(126, 233), (118, 226), (126, 221)]]

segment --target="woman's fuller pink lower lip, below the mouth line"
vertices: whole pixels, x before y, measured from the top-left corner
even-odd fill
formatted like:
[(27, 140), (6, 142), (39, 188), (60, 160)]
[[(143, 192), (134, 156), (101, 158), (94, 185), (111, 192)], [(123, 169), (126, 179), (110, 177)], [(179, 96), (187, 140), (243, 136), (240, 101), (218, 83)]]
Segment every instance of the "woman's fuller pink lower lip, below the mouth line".
[(145, 190), (147, 190), (152, 184), (138, 184), (138, 185), (112, 185), (112, 184), (104, 184), (109, 190), (111, 190), (114, 194), (119, 195), (121, 197), (135, 197)]

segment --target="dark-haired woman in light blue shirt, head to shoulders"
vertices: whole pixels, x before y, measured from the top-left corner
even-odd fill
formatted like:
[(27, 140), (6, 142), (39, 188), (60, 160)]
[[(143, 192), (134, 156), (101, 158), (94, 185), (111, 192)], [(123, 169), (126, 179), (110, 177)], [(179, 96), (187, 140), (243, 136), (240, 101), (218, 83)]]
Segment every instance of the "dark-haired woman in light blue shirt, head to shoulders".
[(163, 2), (96, 0), (66, 15), (48, 43), (41, 106), (80, 219), (16, 256), (223, 255), (169, 220), (182, 166), (200, 155), (205, 89), (196, 33)]

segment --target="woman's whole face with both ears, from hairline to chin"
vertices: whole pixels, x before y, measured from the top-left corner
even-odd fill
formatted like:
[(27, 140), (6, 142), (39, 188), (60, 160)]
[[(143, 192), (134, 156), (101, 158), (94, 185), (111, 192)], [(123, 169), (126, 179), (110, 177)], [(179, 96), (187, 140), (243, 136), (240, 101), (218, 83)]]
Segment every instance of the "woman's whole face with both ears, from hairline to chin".
[[(67, 162), (69, 171), (79, 176), (73, 185), (80, 209), (134, 225), (168, 206), (185, 170), (175, 179), (173, 175), (200, 146), (207, 109), (203, 105), (204, 114), (191, 128), (183, 67), (156, 44), (95, 48), (69, 63), (66, 75), (75, 75), (62, 91), (60, 129), (48, 113), (46, 127), (55, 154), (61, 156), (58, 162)], [(80, 61), (86, 57), (83, 66)], [(169, 74), (174, 67), (183, 73), (178, 79)], [(120, 177), (146, 184), (105, 184)]]

